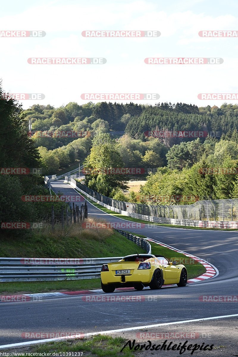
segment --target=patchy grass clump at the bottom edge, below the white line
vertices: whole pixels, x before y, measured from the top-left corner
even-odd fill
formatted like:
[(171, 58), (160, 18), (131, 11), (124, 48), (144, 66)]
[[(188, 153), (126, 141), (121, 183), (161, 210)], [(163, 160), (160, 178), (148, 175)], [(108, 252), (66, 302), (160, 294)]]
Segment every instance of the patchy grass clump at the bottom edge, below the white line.
[[(130, 351), (127, 347), (120, 352), (122, 347), (126, 344), (126, 340), (122, 337), (111, 337), (97, 335), (92, 338), (83, 338), (74, 341), (65, 342), (50, 342), (44, 345), (35, 345), (31, 347), (24, 347), (17, 349), (18, 356), (24, 356), (26, 353), (53, 353), (53, 352), (82, 352), (82, 356), (87, 357), (134, 357), (137, 354), (135, 351)], [(12, 350), (5, 350), (6, 353)], [(5, 352), (4, 351), (4, 352)], [(15, 351), (15, 350), (14, 350)], [(32, 355), (33, 356), (33, 355)], [(71, 355), (72, 356), (72, 355)], [(79, 354), (77, 354), (79, 356)], [(81, 356), (81, 353), (80, 353)]]

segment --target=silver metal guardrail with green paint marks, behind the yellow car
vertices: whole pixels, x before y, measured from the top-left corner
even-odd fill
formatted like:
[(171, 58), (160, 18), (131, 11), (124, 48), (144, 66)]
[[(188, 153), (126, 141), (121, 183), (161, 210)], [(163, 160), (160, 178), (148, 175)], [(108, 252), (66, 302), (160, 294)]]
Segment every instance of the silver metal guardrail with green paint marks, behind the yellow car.
[[(151, 245), (141, 237), (120, 231), (151, 254)], [(99, 278), (102, 264), (122, 257), (108, 258), (0, 258), (0, 282), (49, 281)]]

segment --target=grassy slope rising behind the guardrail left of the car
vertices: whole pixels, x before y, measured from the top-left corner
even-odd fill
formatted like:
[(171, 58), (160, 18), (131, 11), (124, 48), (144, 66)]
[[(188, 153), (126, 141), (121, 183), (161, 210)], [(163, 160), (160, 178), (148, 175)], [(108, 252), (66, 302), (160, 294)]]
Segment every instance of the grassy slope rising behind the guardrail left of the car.
[[(77, 227), (76, 227), (77, 228)], [(100, 231), (100, 232), (98, 232)], [(142, 248), (127, 240), (116, 231), (103, 235), (103, 229), (82, 230), (64, 234), (46, 235), (44, 232), (32, 233), (28, 237), (0, 238), (1, 257), (34, 258), (100, 258), (143, 253)], [(101, 233), (101, 237), (100, 237)]]

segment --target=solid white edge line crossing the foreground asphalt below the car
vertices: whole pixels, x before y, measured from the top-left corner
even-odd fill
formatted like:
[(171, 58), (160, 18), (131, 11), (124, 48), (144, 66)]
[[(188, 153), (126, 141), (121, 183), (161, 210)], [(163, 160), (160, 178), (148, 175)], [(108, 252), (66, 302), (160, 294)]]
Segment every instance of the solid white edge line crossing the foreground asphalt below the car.
[(217, 320), (219, 318), (227, 318), (227, 317), (235, 317), (238, 314), (234, 315), (224, 315), (224, 316), (214, 316), (214, 317), (204, 317), (204, 318), (196, 318), (193, 320), (184, 320), (184, 321), (176, 321), (176, 322), (165, 322), (165, 323), (157, 323), (155, 325), (145, 325), (145, 326), (136, 326), (136, 327), (127, 327), (127, 328), (120, 328), (118, 330), (108, 330), (108, 331), (98, 331), (98, 332), (90, 332), (81, 335), (74, 335), (74, 336), (67, 336), (67, 337), (60, 337), (60, 338), (47, 338), (45, 340), (37, 340), (37, 341), (27, 341), (27, 342), (20, 342), (20, 343), (12, 343), (10, 345), (2, 345), (0, 346), (0, 350), (5, 350), (6, 348), (13, 348), (13, 347), (24, 347), (24, 346), (31, 346), (31, 345), (38, 345), (41, 343), (47, 342), (54, 342), (54, 341), (65, 341), (69, 340), (70, 338), (82, 338), (82, 337), (90, 337), (96, 335), (109, 335), (110, 333), (115, 332), (124, 332), (124, 331), (135, 331), (135, 330), (142, 330), (145, 328), (152, 328), (152, 327), (159, 327), (159, 326), (168, 326), (168, 325), (177, 325), (179, 323), (188, 323), (188, 322), (197, 322), (197, 321), (208, 321), (208, 320)]

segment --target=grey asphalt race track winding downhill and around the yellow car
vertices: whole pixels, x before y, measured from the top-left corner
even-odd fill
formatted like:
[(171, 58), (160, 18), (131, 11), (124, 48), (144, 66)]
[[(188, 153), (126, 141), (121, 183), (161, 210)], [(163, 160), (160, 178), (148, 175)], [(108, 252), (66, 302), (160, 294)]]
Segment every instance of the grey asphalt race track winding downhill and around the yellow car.
[[(51, 183), (51, 188), (64, 195), (76, 195), (76, 191), (63, 181)], [(88, 214), (110, 222), (122, 222), (102, 212), (88, 203)], [(123, 221), (125, 222), (125, 221)], [(71, 332), (72, 334), (96, 331), (116, 330), (153, 324), (177, 322), (172, 327), (166, 326), (163, 331), (204, 331), (209, 338), (203, 342), (220, 347), (218, 350), (195, 352), (202, 356), (236, 356), (238, 355), (237, 325), (238, 316), (206, 320), (199, 323), (182, 321), (200, 318), (238, 314), (238, 302), (202, 302), (201, 296), (236, 296), (238, 295), (237, 250), (238, 233), (234, 231), (187, 230), (181, 228), (152, 227), (125, 230), (140, 233), (154, 240), (166, 243), (185, 252), (208, 260), (219, 271), (219, 275), (208, 281), (188, 284), (186, 287), (165, 287), (159, 291), (123, 291), (107, 296), (127, 296), (128, 301), (102, 302), (85, 301), (82, 296), (51, 298), (39, 302), (1, 303), (0, 304), (0, 345), (29, 341), (24, 338), (26, 332)], [(115, 252), (115, 256), (117, 253)], [(105, 294), (103, 294), (105, 295)], [(130, 301), (130, 296), (145, 296), (143, 301)], [(97, 294), (97, 296), (100, 296)], [(232, 328), (231, 328), (232, 326)], [(161, 328), (146, 328), (150, 331), (162, 331)], [(138, 330), (139, 331), (139, 330)], [(136, 331), (136, 332), (138, 332)], [(228, 334), (224, 334), (229, 331)], [(134, 331), (135, 332), (135, 331)], [(122, 336), (133, 338), (131, 332)], [(200, 335), (202, 336), (202, 335)], [(203, 335), (205, 336), (205, 335)], [(147, 342), (149, 338), (143, 340)], [(165, 338), (164, 338), (165, 340)], [(162, 340), (162, 341), (164, 341)], [(189, 338), (188, 338), (189, 340)], [(172, 340), (171, 340), (172, 341)], [(181, 338), (179, 342), (184, 341)], [(196, 341), (195, 341), (196, 342)], [(157, 343), (159, 343), (157, 341)], [(191, 343), (194, 343), (192, 341)], [(224, 349), (224, 351), (222, 351)], [(173, 353), (173, 352), (171, 352)], [(190, 352), (187, 352), (190, 355)], [(183, 355), (187, 355), (184, 353)], [(156, 354), (156, 351), (154, 351)], [(151, 352), (145, 351), (145, 356)], [(158, 351), (158, 355), (179, 356), (178, 352), (168, 354)], [(143, 355), (144, 356), (144, 355)]]

